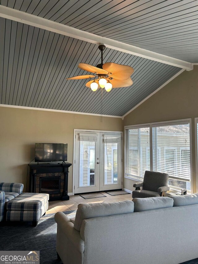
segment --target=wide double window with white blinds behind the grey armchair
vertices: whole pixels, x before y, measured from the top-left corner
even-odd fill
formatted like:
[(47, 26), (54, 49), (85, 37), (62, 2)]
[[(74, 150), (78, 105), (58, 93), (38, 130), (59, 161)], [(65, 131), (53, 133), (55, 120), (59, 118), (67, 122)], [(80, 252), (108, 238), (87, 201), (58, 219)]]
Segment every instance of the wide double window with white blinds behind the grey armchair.
[(191, 190), (190, 121), (125, 127), (125, 177), (143, 180), (145, 170), (167, 172), (172, 188)]

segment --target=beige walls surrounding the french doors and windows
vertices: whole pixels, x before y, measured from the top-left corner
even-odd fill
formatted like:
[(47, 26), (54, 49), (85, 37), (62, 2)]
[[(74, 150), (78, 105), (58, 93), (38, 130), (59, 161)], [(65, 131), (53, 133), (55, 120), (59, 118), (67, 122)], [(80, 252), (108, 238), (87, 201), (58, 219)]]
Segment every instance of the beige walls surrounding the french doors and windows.
[[(77, 115), (0, 107), (0, 181), (26, 184), (27, 164), (34, 158), (36, 142), (68, 143), (68, 162), (73, 163), (73, 134), (76, 129), (122, 131), (124, 125), (192, 118), (192, 173), (196, 192), (195, 127), (198, 117), (198, 66), (184, 71), (160, 91), (121, 118)], [(72, 169), (68, 192), (72, 192)], [(134, 181), (124, 179), (133, 190)], [(25, 190), (25, 188), (24, 188)]]

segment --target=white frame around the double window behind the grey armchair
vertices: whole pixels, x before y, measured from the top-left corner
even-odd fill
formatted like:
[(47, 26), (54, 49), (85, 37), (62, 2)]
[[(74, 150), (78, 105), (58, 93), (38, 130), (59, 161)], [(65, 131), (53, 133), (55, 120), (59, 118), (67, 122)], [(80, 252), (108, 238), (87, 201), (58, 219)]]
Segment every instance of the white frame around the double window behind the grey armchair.
[[(196, 124), (198, 123), (198, 118), (195, 119)], [(189, 124), (189, 133), (190, 133), (190, 170), (191, 170), (191, 193), (193, 192), (193, 177), (192, 177), (192, 119), (178, 119), (178, 120), (170, 120), (170, 121), (161, 121), (161, 122), (153, 122), (153, 123), (144, 123), (144, 124), (137, 124), (137, 125), (129, 125), (124, 126), (124, 178), (129, 180), (134, 180), (136, 182), (141, 182), (143, 180), (143, 177), (130, 177), (126, 175), (126, 151), (127, 151), (127, 145), (126, 145), (126, 133), (128, 129), (135, 129), (135, 128), (144, 128), (149, 127), (150, 131), (150, 171), (153, 170), (153, 128), (159, 127), (159, 126), (171, 126), (171, 125), (180, 125), (180, 124)], [(195, 131), (197, 135), (197, 129), (195, 126)], [(196, 137), (197, 142), (197, 137)], [(198, 175), (198, 153), (197, 153), (197, 144), (196, 145), (196, 175)], [(173, 188), (172, 188), (173, 187)], [(198, 183), (197, 183), (197, 189), (198, 189)], [(179, 191), (181, 188), (171, 186), (171, 191)]]

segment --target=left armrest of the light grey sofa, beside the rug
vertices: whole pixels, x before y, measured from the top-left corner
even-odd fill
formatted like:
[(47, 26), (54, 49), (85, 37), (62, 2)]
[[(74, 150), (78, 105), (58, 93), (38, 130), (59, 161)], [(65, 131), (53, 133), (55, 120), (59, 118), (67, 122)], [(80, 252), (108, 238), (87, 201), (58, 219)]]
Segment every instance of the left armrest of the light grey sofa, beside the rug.
[[(65, 247), (75, 247), (80, 253), (84, 253), (84, 241), (80, 236), (80, 232), (74, 228), (74, 224), (70, 219), (62, 212), (57, 212), (54, 216), (57, 223), (57, 245), (58, 245), (58, 232), (66, 237), (66, 240), (61, 241)], [(69, 244), (67, 241), (69, 240)], [(58, 250), (57, 250), (58, 251)]]

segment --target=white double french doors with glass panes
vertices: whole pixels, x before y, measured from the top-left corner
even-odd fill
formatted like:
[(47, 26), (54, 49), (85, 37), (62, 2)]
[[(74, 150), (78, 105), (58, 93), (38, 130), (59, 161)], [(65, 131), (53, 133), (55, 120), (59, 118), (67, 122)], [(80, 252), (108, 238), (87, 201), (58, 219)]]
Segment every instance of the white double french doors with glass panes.
[(122, 188), (122, 133), (75, 132), (74, 193)]

